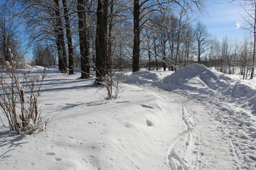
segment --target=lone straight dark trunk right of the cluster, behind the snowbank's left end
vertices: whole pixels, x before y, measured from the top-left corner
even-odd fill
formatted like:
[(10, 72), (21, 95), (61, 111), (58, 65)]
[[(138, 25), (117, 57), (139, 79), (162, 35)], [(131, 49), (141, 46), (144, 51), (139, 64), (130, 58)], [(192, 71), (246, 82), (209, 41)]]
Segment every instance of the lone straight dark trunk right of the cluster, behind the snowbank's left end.
[(139, 71), (139, 0), (134, 0), (134, 9), (133, 9), (133, 23), (134, 23), (134, 37), (133, 37), (133, 73)]

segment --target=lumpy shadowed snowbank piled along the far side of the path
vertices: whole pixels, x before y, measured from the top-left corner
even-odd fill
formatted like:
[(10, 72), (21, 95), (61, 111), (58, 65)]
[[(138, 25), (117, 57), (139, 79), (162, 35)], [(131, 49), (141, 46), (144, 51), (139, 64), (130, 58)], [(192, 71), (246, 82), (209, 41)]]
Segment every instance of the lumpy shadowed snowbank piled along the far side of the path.
[[(170, 71), (167, 71), (170, 74)], [(188, 91), (204, 98), (205, 95), (222, 94), (225, 100), (239, 107), (250, 109), (256, 114), (256, 89), (238, 79), (194, 63), (164, 78), (152, 71), (138, 71), (131, 74), (126, 82), (155, 86), (168, 91)], [(191, 95), (191, 94), (187, 94)]]

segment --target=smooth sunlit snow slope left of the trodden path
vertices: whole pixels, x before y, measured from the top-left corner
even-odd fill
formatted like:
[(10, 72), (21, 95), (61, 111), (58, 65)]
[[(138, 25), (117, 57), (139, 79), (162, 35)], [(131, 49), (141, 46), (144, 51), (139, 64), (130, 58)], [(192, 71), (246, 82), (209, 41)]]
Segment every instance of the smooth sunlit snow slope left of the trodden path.
[(2, 125), (1, 153), (15, 150), (0, 169), (168, 169), (172, 143), (189, 129), (183, 105), (125, 84), (118, 99), (106, 100), (93, 78), (79, 76), (48, 70), (40, 101), (42, 116), (53, 119), (26, 137)]

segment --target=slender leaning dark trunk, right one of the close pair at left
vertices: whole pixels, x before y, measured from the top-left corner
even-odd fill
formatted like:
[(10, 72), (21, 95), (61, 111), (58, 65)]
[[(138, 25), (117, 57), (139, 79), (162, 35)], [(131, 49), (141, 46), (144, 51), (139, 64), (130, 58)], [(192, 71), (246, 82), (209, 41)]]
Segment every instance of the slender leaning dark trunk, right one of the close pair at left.
[(65, 27), (66, 27), (66, 33), (67, 33), (67, 40), (68, 40), (68, 68), (69, 72), (68, 74), (74, 74), (74, 52), (73, 52), (73, 45), (72, 45), (72, 36), (71, 36), (71, 27), (69, 22), (69, 16), (68, 16), (68, 7), (67, 7), (67, 1), (63, 0), (63, 10), (65, 15)]

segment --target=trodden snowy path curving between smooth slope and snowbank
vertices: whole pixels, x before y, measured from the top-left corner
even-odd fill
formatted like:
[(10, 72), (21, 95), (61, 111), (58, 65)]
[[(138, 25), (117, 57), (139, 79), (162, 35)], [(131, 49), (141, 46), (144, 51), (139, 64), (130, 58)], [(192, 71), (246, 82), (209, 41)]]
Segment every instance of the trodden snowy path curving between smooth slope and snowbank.
[[(188, 130), (184, 131), (171, 146), (170, 168), (173, 169), (250, 169), (250, 163), (244, 161), (234, 146), (235, 139), (230, 137), (226, 128), (228, 125), (218, 120), (220, 109), (214, 103), (199, 103), (195, 98), (144, 86), (144, 89), (175, 99), (184, 105), (183, 117)], [(205, 101), (205, 100), (204, 100)], [(218, 103), (216, 103), (218, 104)], [(224, 108), (222, 103), (222, 108)], [(184, 114), (186, 113), (186, 114)], [(216, 115), (217, 116), (216, 116)], [(191, 116), (191, 117), (189, 117)], [(238, 139), (237, 139), (238, 140)], [(248, 141), (247, 141), (248, 142)], [(254, 145), (255, 146), (255, 145)], [(251, 150), (255, 151), (253, 143)], [(244, 155), (246, 156), (246, 155)], [(188, 167), (190, 164), (191, 167)]]

